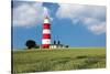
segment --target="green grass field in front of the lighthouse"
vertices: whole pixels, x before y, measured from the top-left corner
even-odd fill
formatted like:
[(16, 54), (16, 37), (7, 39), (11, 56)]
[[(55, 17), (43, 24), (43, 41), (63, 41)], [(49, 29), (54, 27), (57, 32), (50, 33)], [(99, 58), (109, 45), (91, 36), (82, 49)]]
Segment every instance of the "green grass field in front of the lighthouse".
[(13, 73), (103, 67), (105, 47), (13, 51)]

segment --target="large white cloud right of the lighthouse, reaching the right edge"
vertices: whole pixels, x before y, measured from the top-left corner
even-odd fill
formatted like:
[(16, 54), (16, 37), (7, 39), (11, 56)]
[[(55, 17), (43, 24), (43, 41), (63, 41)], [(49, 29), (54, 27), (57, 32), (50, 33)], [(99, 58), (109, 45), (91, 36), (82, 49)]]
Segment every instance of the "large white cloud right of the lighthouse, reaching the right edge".
[(94, 34), (106, 32), (106, 7), (59, 4), (58, 19), (70, 19), (74, 24), (81, 22)]

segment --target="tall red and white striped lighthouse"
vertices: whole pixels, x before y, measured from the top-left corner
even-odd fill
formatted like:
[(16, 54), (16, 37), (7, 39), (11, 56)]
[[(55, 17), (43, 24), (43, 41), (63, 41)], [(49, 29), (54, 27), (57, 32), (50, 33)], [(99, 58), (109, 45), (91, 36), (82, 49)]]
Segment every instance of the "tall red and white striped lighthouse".
[(45, 17), (43, 24), (42, 47), (48, 49), (51, 45), (51, 24), (48, 17)]

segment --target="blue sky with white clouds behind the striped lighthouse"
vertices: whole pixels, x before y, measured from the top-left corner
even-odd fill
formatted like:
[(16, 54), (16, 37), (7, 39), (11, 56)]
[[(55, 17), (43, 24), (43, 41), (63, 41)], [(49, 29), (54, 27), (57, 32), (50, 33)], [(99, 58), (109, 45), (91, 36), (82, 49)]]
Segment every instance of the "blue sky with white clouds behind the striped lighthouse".
[(12, 46), (24, 49), (28, 40), (42, 43), (45, 10), (51, 40), (69, 46), (106, 46), (106, 7), (13, 1)]

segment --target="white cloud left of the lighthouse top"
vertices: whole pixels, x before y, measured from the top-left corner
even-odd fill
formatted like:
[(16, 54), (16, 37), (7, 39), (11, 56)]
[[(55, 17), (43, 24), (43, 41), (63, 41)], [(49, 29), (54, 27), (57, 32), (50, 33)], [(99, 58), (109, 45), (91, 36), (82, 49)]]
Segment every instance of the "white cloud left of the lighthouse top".
[(15, 27), (32, 27), (42, 22), (43, 18), (44, 7), (42, 2), (23, 2), (13, 8), (13, 25)]

